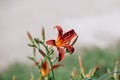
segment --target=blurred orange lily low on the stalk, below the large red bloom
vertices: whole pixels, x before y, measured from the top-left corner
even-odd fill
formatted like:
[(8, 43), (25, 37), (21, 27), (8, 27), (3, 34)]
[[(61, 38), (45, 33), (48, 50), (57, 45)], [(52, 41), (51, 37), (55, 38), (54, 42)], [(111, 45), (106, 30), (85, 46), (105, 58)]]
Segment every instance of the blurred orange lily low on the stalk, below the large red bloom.
[[(55, 65), (52, 66), (52, 69), (56, 69), (56, 68), (58, 68), (60, 66), (63, 66), (63, 65), (62, 64), (55, 64)], [(41, 71), (42, 77), (46, 77), (47, 74), (51, 71), (51, 69), (49, 68), (49, 66), (48, 66), (46, 61), (44, 61), (42, 63), (40, 71)]]

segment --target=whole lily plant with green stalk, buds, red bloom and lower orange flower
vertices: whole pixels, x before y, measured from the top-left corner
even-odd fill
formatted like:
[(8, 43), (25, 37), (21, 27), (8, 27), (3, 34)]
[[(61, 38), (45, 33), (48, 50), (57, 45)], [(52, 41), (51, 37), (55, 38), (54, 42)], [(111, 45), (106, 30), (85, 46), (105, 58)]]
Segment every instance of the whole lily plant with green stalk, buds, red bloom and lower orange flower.
[[(51, 79), (55, 80), (54, 69), (63, 65), (54, 64), (54, 63), (56, 63), (57, 61), (60, 62), (61, 60), (63, 60), (65, 56), (64, 54), (66, 53), (64, 51), (65, 48), (68, 50), (70, 54), (74, 52), (73, 44), (75, 44), (78, 38), (77, 34), (73, 29), (71, 29), (66, 33), (63, 33), (63, 29), (61, 28), (61, 26), (55, 26), (54, 28), (57, 28), (58, 30), (57, 39), (48, 40), (46, 42), (45, 42), (44, 27), (42, 27), (41, 29), (42, 40), (40, 40), (39, 38), (33, 38), (31, 34), (27, 31), (28, 38), (31, 41), (31, 44), (28, 44), (28, 45), (33, 48), (33, 56), (34, 56), (34, 57), (28, 57), (28, 58), (34, 61), (34, 66), (38, 66), (38, 69), (40, 70), (40, 75), (41, 75), (39, 79), (41, 80), (51, 80)], [(74, 37), (76, 37), (74, 41), (71, 44), (68, 43), (68, 42), (71, 42), (71, 40)], [(52, 47), (49, 47), (49, 45), (52, 45)], [(54, 55), (53, 46), (55, 46), (59, 52), (57, 57), (53, 57)], [(37, 61), (36, 59), (36, 56), (37, 56), (36, 50), (43, 57), (43, 59), (40, 62)]]

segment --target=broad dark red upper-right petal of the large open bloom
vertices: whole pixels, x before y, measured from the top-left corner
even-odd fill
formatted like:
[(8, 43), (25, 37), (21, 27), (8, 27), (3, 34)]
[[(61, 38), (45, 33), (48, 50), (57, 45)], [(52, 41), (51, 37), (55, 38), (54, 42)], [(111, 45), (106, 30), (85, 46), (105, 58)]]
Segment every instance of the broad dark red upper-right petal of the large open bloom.
[(70, 41), (72, 38), (74, 38), (75, 36), (77, 36), (77, 34), (76, 34), (75, 31), (72, 29), (72, 30), (66, 32), (66, 33), (63, 35), (63, 40), (64, 40), (64, 42), (68, 42), (68, 41)]

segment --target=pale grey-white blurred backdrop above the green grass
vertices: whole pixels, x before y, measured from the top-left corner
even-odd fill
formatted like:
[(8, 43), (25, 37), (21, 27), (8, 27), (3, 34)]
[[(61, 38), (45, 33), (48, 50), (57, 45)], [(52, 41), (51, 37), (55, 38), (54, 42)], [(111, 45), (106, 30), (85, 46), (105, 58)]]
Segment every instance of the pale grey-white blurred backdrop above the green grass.
[[(75, 29), (75, 47), (106, 48), (120, 38), (120, 0), (0, 0), (0, 71), (15, 61), (29, 62), (29, 31), (47, 39), (57, 36), (55, 25)], [(79, 51), (80, 52), (80, 51)]]

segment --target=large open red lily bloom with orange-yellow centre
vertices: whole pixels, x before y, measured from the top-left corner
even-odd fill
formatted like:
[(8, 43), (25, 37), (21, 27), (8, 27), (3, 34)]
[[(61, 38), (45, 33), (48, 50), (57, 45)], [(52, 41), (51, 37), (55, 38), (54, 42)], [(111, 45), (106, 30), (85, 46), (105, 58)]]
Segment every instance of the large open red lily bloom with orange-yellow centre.
[(58, 30), (58, 37), (56, 40), (48, 40), (46, 44), (56, 46), (59, 52), (58, 61), (61, 61), (64, 58), (64, 48), (68, 49), (70, 54), (74, 52), (74, 48), (69, 44), (69, 42), (76, 37), (77, 34), (73, 29), (63, 34), (63, 30), (60, 26), (55, 26), (54, 28), (57, 28)]

